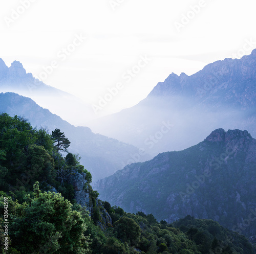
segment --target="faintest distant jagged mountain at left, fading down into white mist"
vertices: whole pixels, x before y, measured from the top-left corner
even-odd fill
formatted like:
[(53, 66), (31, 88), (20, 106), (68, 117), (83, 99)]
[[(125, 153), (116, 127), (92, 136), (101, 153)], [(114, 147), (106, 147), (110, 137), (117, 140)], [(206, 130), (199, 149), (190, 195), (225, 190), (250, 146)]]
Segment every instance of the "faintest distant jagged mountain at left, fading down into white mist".
[(41, 107), (48, 108), (76, 126), (84, 125), (97, 117), (90, 104), (39, 81), (31, 73), (26, 73), (22, 63), (18, 61), (14, 61), (8, 68), (0, 58), (1, 91), (29, 97)]

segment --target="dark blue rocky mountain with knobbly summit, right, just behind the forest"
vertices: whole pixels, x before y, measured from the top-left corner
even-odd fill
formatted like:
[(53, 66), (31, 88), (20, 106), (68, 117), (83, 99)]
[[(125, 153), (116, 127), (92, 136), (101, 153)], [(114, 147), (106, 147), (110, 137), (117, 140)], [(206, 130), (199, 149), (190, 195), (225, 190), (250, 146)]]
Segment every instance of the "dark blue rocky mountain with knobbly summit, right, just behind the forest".
[(217, 129), (198, 145), (134, 163), (94, 184), (100, 199), (173, 222), (186, 215), (256, 235), (256, 140)]

